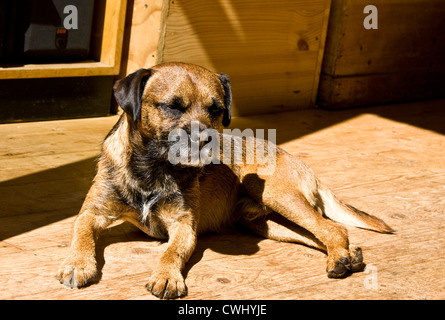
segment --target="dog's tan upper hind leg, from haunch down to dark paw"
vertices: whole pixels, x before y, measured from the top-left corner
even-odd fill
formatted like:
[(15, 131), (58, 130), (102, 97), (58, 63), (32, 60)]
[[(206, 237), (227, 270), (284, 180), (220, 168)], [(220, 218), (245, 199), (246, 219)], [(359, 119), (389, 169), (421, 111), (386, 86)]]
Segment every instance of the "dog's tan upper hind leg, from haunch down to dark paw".
[[(363, 268), (363, 262), (359, 262), (362, 260), (359, 257), (360, 250), (353, 250), (353, 254), (350, 254), (346, 228), (324, 218), (314, 208), (317, 204), (317, 179), (305, 163), (279, 147), (273, 148), (270, 143), (264, 145), (268, 145), (265, 150), (272, 166), (269, 168), (269, 163), (267, 167), (258, 162), (251, 163), (247, 161), (248, 156), (258, 150), (246, 139), (241, 141), (243, 148), (234, 151), (242, 156), (242, 163), (232, 164), (226, 161), (228, 157), (225, 156), (225, 150), (231, 151), (231, 140), (225, 138), (223, 135), (220, 159), (238, 176), (253, 200), (306, 229), (326, 247), (328, 277), (340, 278), (350, 270)], [(236, 141), (238, 138), (233, 139)]]

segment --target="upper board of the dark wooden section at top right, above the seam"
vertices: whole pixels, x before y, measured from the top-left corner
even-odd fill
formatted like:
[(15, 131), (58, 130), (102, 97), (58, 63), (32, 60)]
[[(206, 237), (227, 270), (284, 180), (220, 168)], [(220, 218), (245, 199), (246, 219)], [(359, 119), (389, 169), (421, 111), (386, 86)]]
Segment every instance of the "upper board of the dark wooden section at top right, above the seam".
[(378, 29), (366, 30), (366, 6), (334, 0), (323, 72), (332, 76), (444, 70), (445, 2), (376, 0)]

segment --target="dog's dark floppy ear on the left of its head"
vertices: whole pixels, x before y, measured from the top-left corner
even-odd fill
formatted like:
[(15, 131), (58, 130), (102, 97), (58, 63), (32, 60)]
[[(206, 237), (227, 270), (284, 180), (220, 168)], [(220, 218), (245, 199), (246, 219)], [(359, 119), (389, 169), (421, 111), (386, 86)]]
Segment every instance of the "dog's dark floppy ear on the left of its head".
[(141, 117), (142, 93), (150, 75), (151, 69), (139, 69), (116, 81), (113, 86), (117, 103), (134, 122)]

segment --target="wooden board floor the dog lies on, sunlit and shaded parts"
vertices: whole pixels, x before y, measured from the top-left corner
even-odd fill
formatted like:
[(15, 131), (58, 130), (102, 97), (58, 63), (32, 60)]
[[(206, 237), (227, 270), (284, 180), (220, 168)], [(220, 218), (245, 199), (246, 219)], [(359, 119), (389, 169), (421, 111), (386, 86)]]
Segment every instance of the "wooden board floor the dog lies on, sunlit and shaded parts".
[[(144, 288), (166, 243), (121, 224), (100, 238), (100, 282), (64, 288), (74, 216), (117, 117), (0, 126), (0, 299), (155, 299)], [(234, 119), (278, 143), (351, 204), (397, 230), (349, 228), (367, 273), (334, 280), (324, 253), (231, 229), (199, 239), (186, 299), (444, 299), (445, 101)]]

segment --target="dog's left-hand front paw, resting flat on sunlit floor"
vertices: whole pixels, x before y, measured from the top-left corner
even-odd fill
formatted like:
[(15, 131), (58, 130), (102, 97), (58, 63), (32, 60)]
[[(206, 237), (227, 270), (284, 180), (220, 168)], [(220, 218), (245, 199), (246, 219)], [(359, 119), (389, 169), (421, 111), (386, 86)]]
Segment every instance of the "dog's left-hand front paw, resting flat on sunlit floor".
[(67, 287), (78, 289), (97, 279), (98, 272), (94, 258), (74, 259), (68, 257), (57, 271), (56, 278)]

